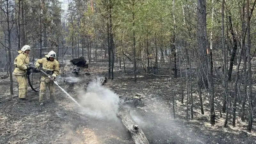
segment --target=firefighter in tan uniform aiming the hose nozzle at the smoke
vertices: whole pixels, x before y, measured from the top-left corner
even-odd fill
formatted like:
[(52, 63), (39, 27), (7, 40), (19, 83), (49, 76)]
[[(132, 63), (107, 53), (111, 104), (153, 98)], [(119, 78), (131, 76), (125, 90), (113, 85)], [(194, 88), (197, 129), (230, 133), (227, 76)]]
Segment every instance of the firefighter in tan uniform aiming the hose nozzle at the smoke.
[[(45, 57), (46, 58), (38, 59), (36, 61), (35, 66), (37, 68), (37, 71), (40, 71), (41, 64), (42, 70), (44, 70), (48, 75), (50, 75), (52, 77), (52, 80), (55, 80), (56, 77), (59, 75), (59, 62), (55, 60), (56, 53), (54, 51), (51, 51), (47, 55), (45, 55)], [(52, 80), (43, 74), (41, 75), (39, 93), (39, 102), (41, 106), (44, 105), (45, 90), (47, 85), (50, 90), (50, 99), (52, 101), (55, 100), (55, 87)]]

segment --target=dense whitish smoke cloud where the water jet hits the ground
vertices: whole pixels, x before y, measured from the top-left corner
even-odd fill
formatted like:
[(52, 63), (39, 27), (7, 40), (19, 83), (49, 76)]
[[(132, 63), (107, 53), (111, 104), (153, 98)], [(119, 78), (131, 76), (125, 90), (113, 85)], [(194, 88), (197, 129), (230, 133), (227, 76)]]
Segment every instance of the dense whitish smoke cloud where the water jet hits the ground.
[(119, 96), (100, 84), (92, 81), (86, 92), (80, 93), (80, 102), (83, 114), (96, 118), (116, 120), (119, 107)]

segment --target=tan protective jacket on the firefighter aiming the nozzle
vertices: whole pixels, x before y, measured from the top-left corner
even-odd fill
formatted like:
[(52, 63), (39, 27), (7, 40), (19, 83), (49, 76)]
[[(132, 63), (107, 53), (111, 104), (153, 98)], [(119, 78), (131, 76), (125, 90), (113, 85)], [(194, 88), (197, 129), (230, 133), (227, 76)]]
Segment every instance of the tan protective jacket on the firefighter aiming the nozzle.
[(47, 58), (36, 60), (36, 64), (35, 64), (36, 68), (39, 68), (40, 64), (42, 64), (42, 69), (44, 71), (52, 71), (53, 77), (56, 78), (59, 75), (59, 62), (57, 60), (51, 61), (51, 60), (47, 60)]

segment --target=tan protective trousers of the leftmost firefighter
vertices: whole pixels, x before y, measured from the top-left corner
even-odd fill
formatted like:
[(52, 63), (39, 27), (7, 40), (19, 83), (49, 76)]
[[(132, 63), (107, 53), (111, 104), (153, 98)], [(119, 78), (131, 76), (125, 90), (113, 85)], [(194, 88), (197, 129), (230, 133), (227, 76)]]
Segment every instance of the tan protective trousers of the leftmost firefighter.
[(24, 99), (28, 96), (28, 79), (26, 75), (14, 75), (17, 78), (19, 99)]

